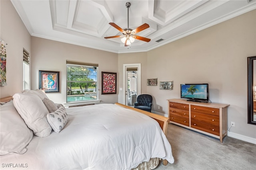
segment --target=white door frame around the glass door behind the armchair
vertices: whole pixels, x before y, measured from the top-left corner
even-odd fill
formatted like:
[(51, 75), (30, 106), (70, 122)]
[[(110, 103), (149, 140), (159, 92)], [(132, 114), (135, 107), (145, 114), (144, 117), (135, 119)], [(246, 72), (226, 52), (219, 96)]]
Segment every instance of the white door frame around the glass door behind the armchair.
[(141, 93), (141, 63), (135, 63), (135, 64), (123, 64), (123, 104), (127, 105), (127, 86), (128, 86), (128, 72), (127, 68), (135, 68), (137, 67), (137, 96)]

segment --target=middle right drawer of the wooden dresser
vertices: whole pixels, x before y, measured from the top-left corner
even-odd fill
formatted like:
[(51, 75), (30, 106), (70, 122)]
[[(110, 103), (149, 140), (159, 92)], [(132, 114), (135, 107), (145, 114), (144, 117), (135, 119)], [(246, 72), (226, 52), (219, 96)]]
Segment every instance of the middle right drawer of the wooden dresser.
[(220, 117), (191, 111), (191, 120), (202, 121), (212, 125), (220, 125)]

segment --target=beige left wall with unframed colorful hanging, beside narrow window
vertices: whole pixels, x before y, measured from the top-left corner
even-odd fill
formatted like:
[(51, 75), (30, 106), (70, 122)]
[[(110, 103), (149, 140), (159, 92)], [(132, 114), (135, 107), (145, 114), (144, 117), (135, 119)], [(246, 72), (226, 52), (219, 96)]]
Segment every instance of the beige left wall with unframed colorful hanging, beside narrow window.
[(23, 48), (31, 53), (30, 34), (10, 0), (0, 0), (0, 38), (6, 45), (6, 82), (0, 97), (23, 90)]

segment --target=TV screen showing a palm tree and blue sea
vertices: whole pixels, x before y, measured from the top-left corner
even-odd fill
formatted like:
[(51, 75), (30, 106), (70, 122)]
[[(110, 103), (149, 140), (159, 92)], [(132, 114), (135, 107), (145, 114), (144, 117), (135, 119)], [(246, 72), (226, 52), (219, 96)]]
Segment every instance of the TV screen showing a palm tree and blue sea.
[(181, 92), (182, 98), (207, 99), (207, 84), (182, 84)]

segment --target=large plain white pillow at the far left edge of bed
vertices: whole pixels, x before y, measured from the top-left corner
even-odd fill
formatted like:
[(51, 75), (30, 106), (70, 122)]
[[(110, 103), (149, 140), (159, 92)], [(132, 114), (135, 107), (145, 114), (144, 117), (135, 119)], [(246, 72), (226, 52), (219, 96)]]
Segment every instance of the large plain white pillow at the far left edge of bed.
[(20, 117), (12, 101), (1, 106), (0, 109), (0, 155), (10, 152), (25, 153), (33, 132)]

